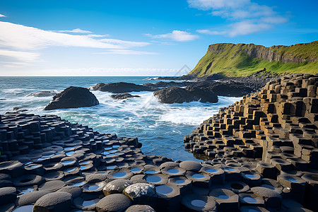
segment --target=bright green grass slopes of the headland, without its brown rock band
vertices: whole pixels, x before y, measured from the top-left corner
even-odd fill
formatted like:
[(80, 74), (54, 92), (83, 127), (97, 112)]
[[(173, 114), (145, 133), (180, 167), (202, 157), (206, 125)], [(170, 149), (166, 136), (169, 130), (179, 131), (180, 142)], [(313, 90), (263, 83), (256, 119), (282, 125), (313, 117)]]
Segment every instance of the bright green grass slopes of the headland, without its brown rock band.
[[(225, 76), (247, 76), (264, 68), (266, 71), (275, 73), (318, 73), (318, 61), (297, 64), (252, 58), (244, 51), (251, 48), (250, 45), (220, 44), (217, 48), (222, 51), (207, 52), (190, 73), (198, 77), (213, 73), (222, 73)], [(260, 49), (268, 48), (260, 47)], [(318, 58), (318, 41), (306, 45), (271, 47), (271, 49), (290, 58)]]

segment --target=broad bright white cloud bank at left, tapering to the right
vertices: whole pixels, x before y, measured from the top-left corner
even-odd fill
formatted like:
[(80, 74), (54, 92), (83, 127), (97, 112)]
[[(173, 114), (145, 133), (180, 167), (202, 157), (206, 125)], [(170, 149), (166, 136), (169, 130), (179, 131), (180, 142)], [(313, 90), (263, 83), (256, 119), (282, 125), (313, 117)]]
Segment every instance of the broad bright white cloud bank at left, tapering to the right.
[(86, 35), (54, 33), (38, 28), (0, 21), (0, 47), (16, 49), (43, 49), (46, 47), (90, 47), (98, 49), (126, 49), (143, 47), (148, 42), (114, 39), (94, 39)]

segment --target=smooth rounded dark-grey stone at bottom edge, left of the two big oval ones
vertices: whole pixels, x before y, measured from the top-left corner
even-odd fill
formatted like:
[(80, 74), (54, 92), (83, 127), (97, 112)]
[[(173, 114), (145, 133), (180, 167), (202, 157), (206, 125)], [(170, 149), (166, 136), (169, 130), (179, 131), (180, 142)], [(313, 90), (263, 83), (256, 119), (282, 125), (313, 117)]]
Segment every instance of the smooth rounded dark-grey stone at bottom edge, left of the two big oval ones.
[(54, 192), (42, 196), (35, 202), (33, 211), (63, 212), (71, 210), (73, 197), (66, 192)]

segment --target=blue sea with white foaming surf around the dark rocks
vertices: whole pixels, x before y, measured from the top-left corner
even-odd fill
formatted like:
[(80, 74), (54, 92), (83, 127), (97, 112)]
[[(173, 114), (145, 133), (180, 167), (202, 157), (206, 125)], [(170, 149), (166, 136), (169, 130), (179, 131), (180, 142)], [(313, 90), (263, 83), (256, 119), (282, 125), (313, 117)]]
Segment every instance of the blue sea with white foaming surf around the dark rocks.
[(112, 93), (93, 91), (100, 105), (45, 111), (43, 108), (52, 97), (27, 96), (40, 90), (59, 93), (69, 86), (89, 88), (97, 83), (156, 83), (155, 76), (49, 76), (49, 77), (0, 77), (0, 114), (13, 111), (14, 107), (33, 114), (57, 114), (69, 122), (93, 127), (105, 134), (120, 137), (138, 137), (145, 154), (164, 155), (172, 160), (197, 160), (185, 151), (183, 138), (191, 134), (204, 120), (218, 113), (240, 98), (219, 96), (217, 103), (184, 102), (163, 104), (153, 92), (133, 92), (141, 98), (114, 100)]

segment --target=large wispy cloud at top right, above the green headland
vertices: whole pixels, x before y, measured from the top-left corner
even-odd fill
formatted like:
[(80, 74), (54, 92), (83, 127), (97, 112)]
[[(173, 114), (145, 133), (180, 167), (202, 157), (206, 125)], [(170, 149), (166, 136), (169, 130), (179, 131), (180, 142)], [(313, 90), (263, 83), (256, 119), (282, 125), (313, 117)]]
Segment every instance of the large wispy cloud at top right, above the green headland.
[(288, 22), (273, 8), (259, 5), (250, 0), (187, 0), (189, 7), (211, 11), (212, 16), (220, 16), (232, 21), (226, 30), (196, 30), (206, 35), (249, 35), (274, 28), (275, 25)]

